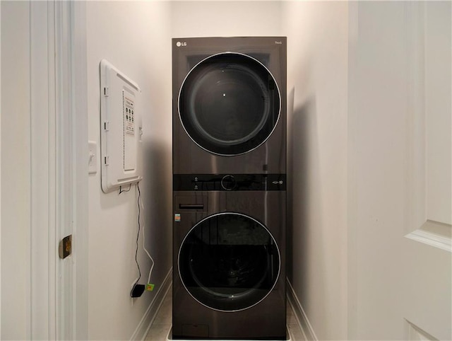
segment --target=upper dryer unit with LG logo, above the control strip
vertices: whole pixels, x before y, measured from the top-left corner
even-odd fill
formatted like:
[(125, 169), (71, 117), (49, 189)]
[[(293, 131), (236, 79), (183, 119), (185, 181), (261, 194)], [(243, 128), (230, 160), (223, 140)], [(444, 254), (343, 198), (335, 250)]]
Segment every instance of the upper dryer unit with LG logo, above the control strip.
[(172, 40), (174, 174), (286, 173), (286, 38)]

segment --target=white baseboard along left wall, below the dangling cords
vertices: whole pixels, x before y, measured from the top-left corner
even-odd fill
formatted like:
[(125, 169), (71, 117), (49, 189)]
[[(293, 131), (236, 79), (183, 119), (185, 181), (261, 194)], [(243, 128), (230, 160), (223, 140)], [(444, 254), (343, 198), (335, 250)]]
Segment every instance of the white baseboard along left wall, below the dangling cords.
[(157, 316), (157, 311), (163, 303), (163, 299), (167, 295), (167, 292), (172, 284), (172, 268), (169, 269), (165, 279), (163, 279), (162, 285), (155, 294), (154, 299), (150, 302), (148, 309), (146, 309), (143, 318), (141, 318), (140, 323), (136, 327), (135, 332), (131, 336), (130, 340), (138, 341), (145, 340), (146, 335), (148, 335), (149, 328), (153, 324), (155, 320), (155, 316)]

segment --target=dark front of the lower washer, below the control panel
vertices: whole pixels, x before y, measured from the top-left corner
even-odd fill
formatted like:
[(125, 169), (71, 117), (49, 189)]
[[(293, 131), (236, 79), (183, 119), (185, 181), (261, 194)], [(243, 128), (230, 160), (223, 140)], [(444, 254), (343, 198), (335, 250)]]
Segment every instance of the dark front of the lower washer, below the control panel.
[(286, 340), (285, 195), (174, 192), (173, 339)]

